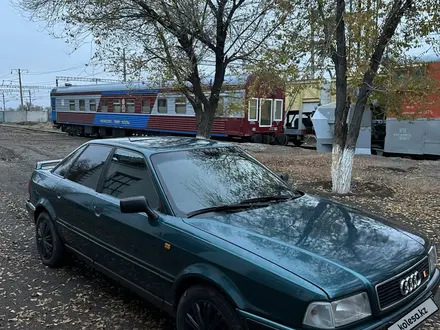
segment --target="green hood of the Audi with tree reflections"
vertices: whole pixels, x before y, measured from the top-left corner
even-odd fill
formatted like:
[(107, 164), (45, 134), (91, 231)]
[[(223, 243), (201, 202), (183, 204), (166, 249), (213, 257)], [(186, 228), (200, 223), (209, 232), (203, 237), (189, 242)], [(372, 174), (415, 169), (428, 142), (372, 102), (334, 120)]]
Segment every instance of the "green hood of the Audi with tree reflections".
[(201, 217), (184, 221), (304, 278), (330, 298), (372, 288), (426, 253), (425, 238), (310, 195)]

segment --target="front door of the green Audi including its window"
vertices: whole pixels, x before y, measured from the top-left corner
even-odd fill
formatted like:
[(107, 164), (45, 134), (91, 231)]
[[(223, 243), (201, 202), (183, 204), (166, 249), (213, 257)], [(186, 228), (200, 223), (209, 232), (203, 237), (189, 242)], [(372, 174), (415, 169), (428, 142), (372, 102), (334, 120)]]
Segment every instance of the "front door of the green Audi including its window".
[(145, 196), (149, 205), (158, 210), (159, 197), (144, 156), (118, 148), (109, 159), (101, 179), (93, 209), (91, 231), (99, 237), (102, 249), (94, 262), (118, 277), (141, 287), (151, 298), (162, 298), (160, 253), (162, 223), (150, 221), (144, 213), (123, 214), (121, 198)]

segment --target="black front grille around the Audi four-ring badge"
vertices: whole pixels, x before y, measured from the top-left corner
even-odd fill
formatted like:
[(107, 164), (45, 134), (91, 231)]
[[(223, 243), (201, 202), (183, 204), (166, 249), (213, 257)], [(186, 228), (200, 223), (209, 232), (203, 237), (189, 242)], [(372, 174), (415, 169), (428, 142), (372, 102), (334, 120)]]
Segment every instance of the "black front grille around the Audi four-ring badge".
[[(424, 271), (428, 272), (428, 276), (423, 277), (422, 276), (422, 283), (420, 286), (414, 290), (413, 292), (409, 293), (408, 295), (404, 296), (400, 292), (400, 282), (409, 276), (410, 274), (414, 273), (415, 271), (418, 271), (420, 274), (423, 274)], [(385, 310), (394, 304), (409, 298), (414, 293), (418, 292), (420, 288), (423, 287), (423, 284), (429, 279), (429, 261), (428, 258), (425, 257), (421, 261), (419, 261), (417, 264), (412, 266), (411, 268), (407, 269), (403, 273), (400, 273), (399, 275), (392, 277), (391, 279), (382, 282), (376, 286), (376, 293), (377, 298), (379, 300), (379, 307), (381, 310)]]

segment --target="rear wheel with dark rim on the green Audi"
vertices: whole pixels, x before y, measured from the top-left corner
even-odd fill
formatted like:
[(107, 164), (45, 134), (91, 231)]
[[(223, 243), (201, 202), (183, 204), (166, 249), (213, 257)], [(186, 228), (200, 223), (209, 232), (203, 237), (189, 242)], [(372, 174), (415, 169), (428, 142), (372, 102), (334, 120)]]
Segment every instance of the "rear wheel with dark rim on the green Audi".
[(46, 212), (38, 215), (35, 225), (35, 239), (38, 254), (42, 263), (52, 268), (58, 268), (66, 262), (66, 251), (55, 225)]

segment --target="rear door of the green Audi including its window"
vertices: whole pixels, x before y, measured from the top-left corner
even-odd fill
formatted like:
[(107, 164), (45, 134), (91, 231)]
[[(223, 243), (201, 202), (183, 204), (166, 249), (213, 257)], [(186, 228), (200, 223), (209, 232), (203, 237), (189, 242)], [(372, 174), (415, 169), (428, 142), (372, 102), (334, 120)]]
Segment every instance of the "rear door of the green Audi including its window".
[(90, 224), (95, 217), (92, 201), (111, 151), (108, 145), (89, 144), (55, 187), (61, 235), (69, 248), (89, 258), (96, 248)]

